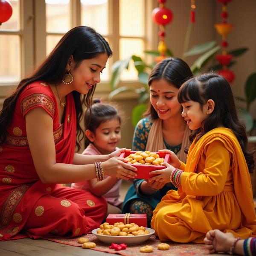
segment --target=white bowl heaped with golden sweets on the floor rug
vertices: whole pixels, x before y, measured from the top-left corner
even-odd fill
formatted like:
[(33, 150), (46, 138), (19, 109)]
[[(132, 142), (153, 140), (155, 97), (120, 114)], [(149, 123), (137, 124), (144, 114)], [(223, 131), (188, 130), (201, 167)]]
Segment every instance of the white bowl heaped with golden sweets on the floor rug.
[(92, 233), (105, 244), (141, 244), (154, 234), (154, 230), (148, 227), (138, 226), (135, 223), (124, 224), (116, 222), (110, 225), (105, 222), (92, 231)]

